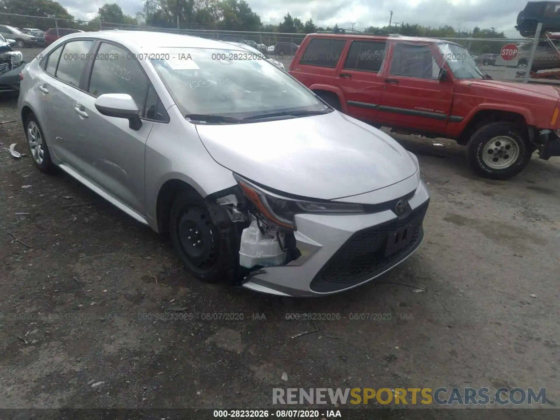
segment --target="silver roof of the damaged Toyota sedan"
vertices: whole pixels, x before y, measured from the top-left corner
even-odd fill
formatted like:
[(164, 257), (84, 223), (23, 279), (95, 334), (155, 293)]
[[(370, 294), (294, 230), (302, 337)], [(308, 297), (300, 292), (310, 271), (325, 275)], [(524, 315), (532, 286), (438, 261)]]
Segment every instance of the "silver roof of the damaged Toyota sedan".
[(67, 35), (64, 39), (97, 38), (114, 41), (122, 44), (131, 51), (145, 50), (149, 48), (211, 48), (229, 49), (232, 44), (213, 39), (199, 38), (198, 36), (167, 34), (166, 32), (148, 31), (97, 31), (80, 32), (79, 34)]

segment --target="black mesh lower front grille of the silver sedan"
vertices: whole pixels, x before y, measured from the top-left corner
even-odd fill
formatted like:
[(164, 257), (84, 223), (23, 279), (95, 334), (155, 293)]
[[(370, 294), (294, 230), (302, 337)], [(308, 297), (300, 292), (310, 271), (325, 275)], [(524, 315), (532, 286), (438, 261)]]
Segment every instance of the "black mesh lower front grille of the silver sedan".
[[(400, 220), (395, 219), (356, 232), (315, 276), (311, 282), (311, 290), (328, 292), (347, 288), (374, 277), (389, 265), (405, 258), (417, 248), (422, 239), (422, 222), (427, 209), (428, 202)], [(412, 241), (405, 248), (385, 256), (389, 234), (409, 224), (416, 227)]]

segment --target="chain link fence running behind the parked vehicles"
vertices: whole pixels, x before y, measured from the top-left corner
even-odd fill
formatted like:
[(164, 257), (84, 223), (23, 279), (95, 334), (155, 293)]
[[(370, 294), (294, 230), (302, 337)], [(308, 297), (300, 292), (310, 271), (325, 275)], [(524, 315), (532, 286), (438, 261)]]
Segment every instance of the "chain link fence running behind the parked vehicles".
[[(82, 31), (116, 29), (171, 32), (217, 40), (247, 41), (250, 45), (261, 50), (263, 53), (283, 56), (282, 61), (285, 66), (290, 64), (291, 56), (295, 53), (298, 45), (302, 43), (306, 36), (306, 34), (234, 31), (200, 26), (166, 28), (146, 25), (111, 24), (97, 20), (69, 20), (52, 17), (13, 15), (10, 13), (0, 13), (0, 25), (16, 27), (18, 30), (14, 31), (15, 33), (12, 34), (4, 32), (6, 29), (0, 29), (0, 33), (4, 38), (16, 40), (20, 40), (21, 38), (21, 35), (17, 33), (19, 31), (30, 33), (30, 30), (46, 32), (49, 29), (77, 29)], [(63, 33), (62, 31), (60, 32)], [(40, 37), (41, 35), (38, 34), (34, 41), (18, 43), (17, 47), (24, 49), (22, 51), (24, 55), (26, 55), (25, 48), (43, 48), (45, 46), (44, 38)], [(497, 80), (522, 80), (525, 72), (528, 70), (529, 55), (531, 47), (533, 46), (533, 39), (530, 38), (447, 38), (444, 40), (464, 46), (472, 55), (479, 68)], [(558, 40), (554, 40), (554, 43), (557, 41)], [(515, 44), (517, 46), (517, 54), (511, 59), (508, 59), (509, 57), (504, 59), (501, 56), (502, 48), (507, 44)], [(560, 68), (560, 60), (556, 49), (553, 49), (550, 43), (545, 40), (539, 41), (531, 71), (541, 73), (550, 72), (557, 67)], [(560, 79), (560, 77), (558, 78)]]

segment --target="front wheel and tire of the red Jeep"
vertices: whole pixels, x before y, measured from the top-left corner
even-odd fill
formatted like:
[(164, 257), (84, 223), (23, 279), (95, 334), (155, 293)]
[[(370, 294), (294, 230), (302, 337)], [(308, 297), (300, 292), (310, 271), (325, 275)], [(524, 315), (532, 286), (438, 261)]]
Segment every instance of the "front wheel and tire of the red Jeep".
[(534, 147), (519, 126), (497, 122), (480, 127), (470, 138), (470, 166), (484, 178), (508, 179), (529, 164)]

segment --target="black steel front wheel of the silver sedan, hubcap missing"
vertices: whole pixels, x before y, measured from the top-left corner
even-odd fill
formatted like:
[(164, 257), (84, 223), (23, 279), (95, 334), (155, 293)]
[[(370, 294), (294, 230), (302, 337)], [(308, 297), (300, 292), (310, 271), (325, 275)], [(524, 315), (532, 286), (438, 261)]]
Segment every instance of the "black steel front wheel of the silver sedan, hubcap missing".
[(173, 248), (190, 274), (208, 283), (232, 279), (236, 259), (231, 244), (214, 225), (202, 197), (180, 193), (171, 207), (169, 229)]

